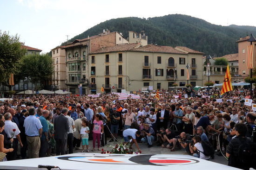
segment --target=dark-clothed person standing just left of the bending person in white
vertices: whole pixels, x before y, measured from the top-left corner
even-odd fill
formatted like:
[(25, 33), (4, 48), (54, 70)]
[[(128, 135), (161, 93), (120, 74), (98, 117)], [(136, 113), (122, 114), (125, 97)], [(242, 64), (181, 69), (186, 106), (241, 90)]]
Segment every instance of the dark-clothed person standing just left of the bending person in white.
[(120, 120), (120, 114), (116, 112), (117, 108), (114, 107), (113, 108), (113, 113), (110, 114), (109, 118), (110, 118), (110, 128), (111, 128), (111, 138), (109, 140), (109, 142), (113, 142), (114, 138), (115, 141), (117, 141), (117, 132), (118, 132), (118, 124), (119, 124), (119, 120)]

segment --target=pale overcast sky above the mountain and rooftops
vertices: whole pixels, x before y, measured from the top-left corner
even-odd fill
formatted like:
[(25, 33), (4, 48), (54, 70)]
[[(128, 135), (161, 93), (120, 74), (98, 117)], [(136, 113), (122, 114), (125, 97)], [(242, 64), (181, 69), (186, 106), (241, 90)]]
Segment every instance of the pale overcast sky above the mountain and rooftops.
[(255, 6), (256, 0), (0, 0), (0, 30), (18, 34), (25, 45), (48, 52), (64, 42), (66, 35), (70, 39), (122, 17), (178, 13), (216, 25), (256, 26)]

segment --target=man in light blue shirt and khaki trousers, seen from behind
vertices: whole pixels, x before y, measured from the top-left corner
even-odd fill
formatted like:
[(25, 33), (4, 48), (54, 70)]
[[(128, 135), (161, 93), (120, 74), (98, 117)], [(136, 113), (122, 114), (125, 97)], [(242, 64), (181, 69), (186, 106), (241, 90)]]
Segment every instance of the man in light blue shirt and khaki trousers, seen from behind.
[(40, 137), (42, 135), (43, 126), (39, 119), (35, 117), (35, 108), (28, 110), (29, 116), (24, 120), (25, 133), (27, 135), (28, 157), (39, 157)]

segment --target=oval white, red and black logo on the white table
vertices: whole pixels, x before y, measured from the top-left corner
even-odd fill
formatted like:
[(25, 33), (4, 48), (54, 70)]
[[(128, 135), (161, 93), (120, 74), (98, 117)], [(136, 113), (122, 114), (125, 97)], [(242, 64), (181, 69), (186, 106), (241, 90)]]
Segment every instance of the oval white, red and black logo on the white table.
[(122, 164), (122, 165), (153, 165), (153, 166), (167, 166), (167, 165), (184, 165), (195, 164), (198, 160), (171, 157), (168, 155), (117, 155), (117, 154), (84, 154), (84, 156), (73, 157), (57, 157), (58, 159), (85, 162), (92, 164)]

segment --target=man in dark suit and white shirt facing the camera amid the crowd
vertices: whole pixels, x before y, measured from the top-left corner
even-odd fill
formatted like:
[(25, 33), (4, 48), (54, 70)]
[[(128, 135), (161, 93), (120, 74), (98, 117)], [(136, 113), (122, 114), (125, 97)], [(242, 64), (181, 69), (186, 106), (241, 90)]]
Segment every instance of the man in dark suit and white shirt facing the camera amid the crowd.
[(158, 110), (156, 113), (157, 129), (159, 130), (161, 127), (166, 129), (169, 118), (170, 118), (169, 111), (165, 110), (165, 104), (163, 103), (162, 109)]

